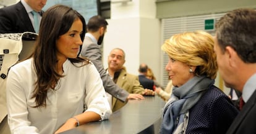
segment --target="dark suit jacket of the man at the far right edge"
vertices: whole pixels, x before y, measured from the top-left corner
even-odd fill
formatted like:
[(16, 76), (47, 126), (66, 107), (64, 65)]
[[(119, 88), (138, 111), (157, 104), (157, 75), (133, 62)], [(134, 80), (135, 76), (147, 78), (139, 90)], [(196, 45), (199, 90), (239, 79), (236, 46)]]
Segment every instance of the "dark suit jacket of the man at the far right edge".
[(242, 110), (234, 119), (233, 124), (228, 129), (228, 134), (232, 133), (256, 133), (256, 90), (244, 104)]

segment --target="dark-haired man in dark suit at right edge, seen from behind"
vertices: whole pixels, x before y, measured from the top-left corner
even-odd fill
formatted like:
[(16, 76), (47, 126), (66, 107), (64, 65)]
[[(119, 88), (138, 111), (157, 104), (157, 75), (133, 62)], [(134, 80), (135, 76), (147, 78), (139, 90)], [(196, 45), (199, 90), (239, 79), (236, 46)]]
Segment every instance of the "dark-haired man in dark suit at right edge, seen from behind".
[[(256, 10), (228, 12), (215, 25), (215, 52), (226, 87), (242, 93), (244, 106), (227, 133), (256, 133)], [(243, 104), (243, 103), (241, 103)]]

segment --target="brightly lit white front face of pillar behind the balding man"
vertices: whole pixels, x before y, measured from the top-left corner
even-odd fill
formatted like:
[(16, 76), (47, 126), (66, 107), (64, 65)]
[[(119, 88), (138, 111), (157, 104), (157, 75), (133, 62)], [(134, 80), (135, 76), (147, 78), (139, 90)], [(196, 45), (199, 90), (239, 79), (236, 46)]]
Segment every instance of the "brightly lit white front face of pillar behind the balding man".
[(126, 52), (126, 63), (124, 66), (126, 66), (127, 71), (132, 74), (137, 74), (140, 57), (139, 18), (110, 19), (107, 21), (108, 28), (103, 44), (103, 63), (105, 68), (108, 68), (109, 52), (119, 47)]

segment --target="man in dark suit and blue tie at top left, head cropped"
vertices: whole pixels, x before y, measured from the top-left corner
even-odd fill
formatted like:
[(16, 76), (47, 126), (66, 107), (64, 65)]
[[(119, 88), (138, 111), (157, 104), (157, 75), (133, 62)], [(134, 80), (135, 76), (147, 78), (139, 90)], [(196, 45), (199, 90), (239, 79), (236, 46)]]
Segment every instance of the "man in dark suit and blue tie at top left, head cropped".
[[(38, 33), (41, 21), (41, 10), (47, 0), (21, 0), (12, 6), (0, 9), (0, 33), (23, 33), (30, 31)], [(36, 12), (36, 18), (33, 19), (32, 11)], [(38, 22), (35, 27), (34, 22)]]

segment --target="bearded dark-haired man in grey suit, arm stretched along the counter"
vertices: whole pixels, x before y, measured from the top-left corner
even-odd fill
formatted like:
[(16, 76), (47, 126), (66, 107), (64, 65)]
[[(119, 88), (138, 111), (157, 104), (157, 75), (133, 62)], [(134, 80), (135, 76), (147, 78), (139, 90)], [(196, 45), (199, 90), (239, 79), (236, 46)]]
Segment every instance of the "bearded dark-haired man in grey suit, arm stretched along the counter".
[(81, 55), (89, 58), (96, 66), (107, 93), (118, 100), (121, 100), (122, 102), (125, 102), (127, 99), (144, 99), (143, 96), (138, 93), (129, 93), (126, 90), (118, 87), (103, 68), (99, 45), (101, 45), (103, 41), (107, 25), (108, 22), (106, 22), (105, 18), (101, 17), (100, 15), (95, 15), (90, 18), (87, 24), (88, 33), (85, 34)]

